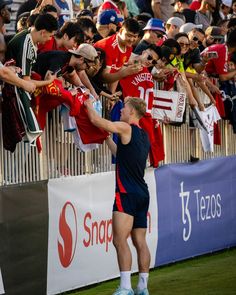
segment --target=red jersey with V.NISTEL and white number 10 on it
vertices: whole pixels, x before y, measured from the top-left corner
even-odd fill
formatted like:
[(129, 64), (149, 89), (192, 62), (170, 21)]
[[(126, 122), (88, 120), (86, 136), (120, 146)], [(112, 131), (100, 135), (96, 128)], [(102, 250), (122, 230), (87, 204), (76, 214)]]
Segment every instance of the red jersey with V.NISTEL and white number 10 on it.
[(140, 97), (147, 104), (147, 113), (151, 113), (153, 106), (153, 78), (147, 68), (138, 74), (130, 75), (120, 80), (123, 96)]

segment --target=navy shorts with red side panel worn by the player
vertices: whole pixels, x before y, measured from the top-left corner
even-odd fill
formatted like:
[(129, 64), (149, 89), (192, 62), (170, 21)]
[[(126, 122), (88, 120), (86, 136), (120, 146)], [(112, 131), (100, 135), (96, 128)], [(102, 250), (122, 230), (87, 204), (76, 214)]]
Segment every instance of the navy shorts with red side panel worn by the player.
[(113, 211), (124, 212), (134, 217), (133, 228), (147, 228), (149, 195), (116, 192)]

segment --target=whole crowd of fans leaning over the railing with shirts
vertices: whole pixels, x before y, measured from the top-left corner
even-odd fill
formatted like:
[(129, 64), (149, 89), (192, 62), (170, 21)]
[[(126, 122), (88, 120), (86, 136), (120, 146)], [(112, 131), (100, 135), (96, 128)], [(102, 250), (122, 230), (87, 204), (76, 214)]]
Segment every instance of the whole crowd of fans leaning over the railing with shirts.
[(7, 150), (13, 152), (22, 140), (37, 142), (40, 150), (46, 115), (62, 105), (65, 130), (74, 133), (78, 148), (92, 149), (107, 133), (89, 122), (84, 99), (94, 98), (101, 112), (104, 97), (103, 113), (119, 120), (125, 98), (135, 96), (147, 103), (140, 125), (149, 134), (150, 163), (156, 167), (164, 149), (152, 118), (154, 81), (165, 91), (180, 91), (181, 84), (200, 125), (198, 114), (213, 106), (207, 116), (214, 131), (220, 116), (236, 133), (236, 0), (28, 0), (18, 11), (14, 36), (4, 29), (11, 21), (9, 3), (0, 0)]

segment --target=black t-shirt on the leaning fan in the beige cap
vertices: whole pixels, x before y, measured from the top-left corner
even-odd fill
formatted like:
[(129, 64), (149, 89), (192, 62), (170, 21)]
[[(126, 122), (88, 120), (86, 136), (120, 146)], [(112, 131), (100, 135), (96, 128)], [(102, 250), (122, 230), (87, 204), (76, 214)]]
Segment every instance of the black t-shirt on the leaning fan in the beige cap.
[(33, 67), (33, 71), (40, 74), (44, 78), (47, 71), (53, 73), (60, 71), (61, 74), (73, 72), (74, 68), (69, 66), (71, 58), (70, 52), (65, 51), (47, 51), (40, 53), (37, 57), (37, 61)]

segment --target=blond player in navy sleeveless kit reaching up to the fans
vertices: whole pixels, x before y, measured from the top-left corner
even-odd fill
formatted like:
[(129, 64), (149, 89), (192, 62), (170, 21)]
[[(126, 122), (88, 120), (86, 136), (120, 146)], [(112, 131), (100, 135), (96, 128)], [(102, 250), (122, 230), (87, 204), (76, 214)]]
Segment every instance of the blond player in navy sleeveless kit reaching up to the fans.
[[(112, 229), (121, 277), (120, 287), (113, 295), (148, 295), (150, 252), (146, 243), (146, 228), (149, 192), (144, 181), (144, 170), (150, 143), (147, 133), (139, 127), (139, 120), (146, 113), (146, 103), (140, 98), (127, 98), (120, 122), (99, 117), (89, 99), (85, 105), (95, 126), (119, 136), (117, 145), (110, 137), (106, 140), (112, 154), (116, 156)], [(135, 293), (131, 287), (132, 256), (127, 242), (129, 235), (137, 250), (139, 264), (139, 283)]]

